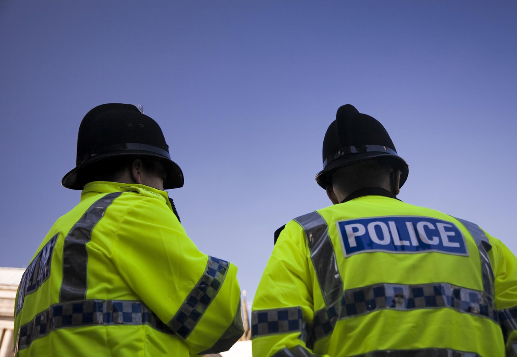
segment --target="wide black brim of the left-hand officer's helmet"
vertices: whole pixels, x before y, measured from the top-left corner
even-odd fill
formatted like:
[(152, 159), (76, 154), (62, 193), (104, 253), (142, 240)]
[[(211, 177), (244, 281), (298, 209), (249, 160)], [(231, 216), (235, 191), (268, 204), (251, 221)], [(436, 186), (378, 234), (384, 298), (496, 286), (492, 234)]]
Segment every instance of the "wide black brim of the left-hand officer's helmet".
[(69, 171), (65, 176), (63, 176), (61, 184), (65, 188), (70, 188), (72, 190), (82, 190), (84, 188), (84, 185), (87, 184), (87, 182), (84, 182), (84, 177), (86, 176), (85, 173), (92, 168), (93, 164), (99, 163), (100, 161), (108, 158), (111, 159), (114, 157), (123, 157), (128, 155), (149, 156), (159, 159), (160, 162), (163, 164), (165, 172), (167, 173), (167, 177), (163, 182), (163, 189), (183, 187), (183, 172), (181, 171), (176, 162), (172, 161), (170, 158), (165, 157), (163, 155), (140, 150), (125, 150), (120, 152), (111, 152), (97, 155)]

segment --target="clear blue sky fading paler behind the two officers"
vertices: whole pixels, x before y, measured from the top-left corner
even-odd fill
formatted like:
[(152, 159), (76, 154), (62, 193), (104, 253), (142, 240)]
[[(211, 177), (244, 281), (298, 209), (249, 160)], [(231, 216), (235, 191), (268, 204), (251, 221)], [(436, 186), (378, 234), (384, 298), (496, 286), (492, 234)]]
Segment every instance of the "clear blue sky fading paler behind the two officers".
[(399, 196), (515, 240), (515, 1), (0, 0), (0, 266), (25, 266), (79, 200), (60, 185), (106, 102), (162, 127), (170, 190), (253, 298), (288, 220), (330, 204), (314, 175), (336, 110), (381, 121)]

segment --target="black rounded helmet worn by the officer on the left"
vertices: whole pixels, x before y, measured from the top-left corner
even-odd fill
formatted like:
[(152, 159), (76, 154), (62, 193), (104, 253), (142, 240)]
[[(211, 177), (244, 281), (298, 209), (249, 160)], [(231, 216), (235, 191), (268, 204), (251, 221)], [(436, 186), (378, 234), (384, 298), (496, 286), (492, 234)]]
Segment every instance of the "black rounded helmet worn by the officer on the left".
[(183, 186), (183, 173), (171, 160), (160, 126), (143, 114), (142, 106), (121, 103), (102, 104), (84, 116), (77, 138), (77, 166), (61, 183), (66, 188), (82, 190), (92, 164), (127, 155), (158, 158), (167, 172), (163, 188)]

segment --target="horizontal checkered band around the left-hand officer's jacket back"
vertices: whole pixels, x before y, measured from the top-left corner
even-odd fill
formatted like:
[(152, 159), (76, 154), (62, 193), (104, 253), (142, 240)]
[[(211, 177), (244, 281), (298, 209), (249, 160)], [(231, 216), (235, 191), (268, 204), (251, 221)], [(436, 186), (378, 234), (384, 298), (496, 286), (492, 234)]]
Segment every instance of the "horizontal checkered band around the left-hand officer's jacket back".
[(142, 301), (82, 300), (51, 305), (34, 319), (20, 326), (15, 353), (32, 341), (54, 330), (92, 325), (150, 325), (172, 334), (172, 331)]

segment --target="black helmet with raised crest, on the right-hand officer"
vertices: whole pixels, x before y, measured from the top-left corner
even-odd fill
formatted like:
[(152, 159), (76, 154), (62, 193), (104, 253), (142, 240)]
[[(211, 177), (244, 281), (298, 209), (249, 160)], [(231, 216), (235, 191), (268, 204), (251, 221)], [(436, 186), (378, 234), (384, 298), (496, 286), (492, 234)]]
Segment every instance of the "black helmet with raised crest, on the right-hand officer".
[(323, 170), (316, 174), (318, 185), (327, 188), (332, 173), (351, 163), (382, 157), (400, 170), (400, 187), (409, 168), (397, 154), (384, 126), (370, 115), (359, 113), (352, 105), (339, 107), (323, 140)]

